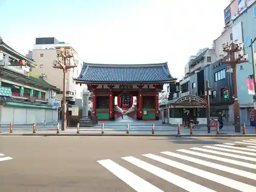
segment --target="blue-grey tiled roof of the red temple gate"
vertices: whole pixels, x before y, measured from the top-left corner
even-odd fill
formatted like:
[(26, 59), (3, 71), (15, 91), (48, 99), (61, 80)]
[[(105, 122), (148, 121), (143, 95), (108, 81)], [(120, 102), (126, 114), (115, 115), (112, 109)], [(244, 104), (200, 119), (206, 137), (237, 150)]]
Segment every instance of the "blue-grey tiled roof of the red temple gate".
[(167, 62), (143, 65), (108, 65), (83, 63), (74, 79), (83, 83), (154, 83), (176, 80), (170, 75)]

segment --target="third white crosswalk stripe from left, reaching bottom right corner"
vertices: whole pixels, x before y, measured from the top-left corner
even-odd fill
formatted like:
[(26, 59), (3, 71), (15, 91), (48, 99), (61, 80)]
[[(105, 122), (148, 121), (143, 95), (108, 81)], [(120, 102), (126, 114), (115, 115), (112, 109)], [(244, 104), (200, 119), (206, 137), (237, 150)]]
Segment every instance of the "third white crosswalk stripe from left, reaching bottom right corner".
[(178, 168), (183, 170), (184, 172), (190, 173), (190, 174), (194, 174), (196, 176), (202, 177), (204, 179), (208, 179), (210, 181), (214, 181), (216, 183), (220, 183), (222, 185), (231, 187), (233, 189), (237, 189), (243, 192), (248, 192), (248, 191), (256, 191), (256, 187), (252, 186), (252, 185), (248, 185), (239, 181), (235, 181), (217, 174), (213, 174), (210, 172), (206, 172), (205, 170), (193, 167), (193, 166), (189, 166), (183, 163), (179, 163), (170, 159), (166, 159), (157, 155), (153, 155), (153, 154), (146, 154), (144, 155), (145, 157), (148, 157), (150, 159), (159, 161), (161, 163), (164, 163), (166, 165)]

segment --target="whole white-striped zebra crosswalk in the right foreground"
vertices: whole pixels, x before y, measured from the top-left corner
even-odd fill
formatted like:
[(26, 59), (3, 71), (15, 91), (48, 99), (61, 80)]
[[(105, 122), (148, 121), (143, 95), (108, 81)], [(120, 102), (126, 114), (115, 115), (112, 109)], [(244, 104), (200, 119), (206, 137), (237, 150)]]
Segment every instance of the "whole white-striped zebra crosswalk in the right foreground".
[(97, 162), (137, 192), (248, 192), (256, 191), (255, 156), (250, 139)]

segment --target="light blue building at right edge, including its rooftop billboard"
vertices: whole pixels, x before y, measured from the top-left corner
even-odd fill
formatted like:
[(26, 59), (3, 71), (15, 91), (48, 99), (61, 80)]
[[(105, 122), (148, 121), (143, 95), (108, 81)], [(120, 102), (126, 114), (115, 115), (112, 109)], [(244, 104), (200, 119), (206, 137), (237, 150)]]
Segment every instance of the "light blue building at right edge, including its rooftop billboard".
[[(250, 125), (250, 114), (253, 111), (253, 95), (248, 94), (246, 79), (252, 75), (250, 39), (256, 36), (256, 1), (233, 1), (224, 11), (226, 25), (232, 25), (232, 37), (244, 43), (244, 53), (248, 54), (247, 63), (237, 65), (238, 102), (240, 119)], [(256, 46), (254, 44), (254, 51)], [(254, 52), (255, 54), (255, 52)]]

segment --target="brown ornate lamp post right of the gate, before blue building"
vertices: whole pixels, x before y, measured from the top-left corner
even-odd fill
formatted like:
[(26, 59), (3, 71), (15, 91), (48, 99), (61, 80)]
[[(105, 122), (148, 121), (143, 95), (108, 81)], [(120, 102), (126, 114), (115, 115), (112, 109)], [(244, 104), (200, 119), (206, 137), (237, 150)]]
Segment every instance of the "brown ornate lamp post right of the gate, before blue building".
[(237, 90), (237, 64), (247, 62), (247, 54), (244, 54), (243, 43), (239, 43), (238, 40), (235, 40), (230, 45), (228, 42), (222, 44), (223, 51), (227, 53), (227, 57), (224, 59), (224, 55), (220, 55), (220, 63), (230, 65), (233, 72), (233, 81), (234, 81), (234, 131), (237, 133), (241, 132), (240, 126), (240, 106), (238, 102), (238, 90)]

